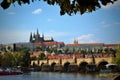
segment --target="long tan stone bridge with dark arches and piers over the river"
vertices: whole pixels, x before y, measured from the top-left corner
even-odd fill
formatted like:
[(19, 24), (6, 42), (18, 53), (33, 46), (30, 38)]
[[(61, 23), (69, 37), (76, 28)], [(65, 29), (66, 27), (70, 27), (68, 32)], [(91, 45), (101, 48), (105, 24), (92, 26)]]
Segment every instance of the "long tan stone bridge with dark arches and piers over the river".
[(40, 66), (43, 71), (56, 70), (59, 71), (62, 68), (64, 70), (85, 70), (88, 65), (93, 68), (105, 68), (106, 64), (112, 63), (113, 57), (98, 57), (98, 58), (68, 58), (68, 59), (51, 59), (51, 60), (33, 60), (31, 65)]

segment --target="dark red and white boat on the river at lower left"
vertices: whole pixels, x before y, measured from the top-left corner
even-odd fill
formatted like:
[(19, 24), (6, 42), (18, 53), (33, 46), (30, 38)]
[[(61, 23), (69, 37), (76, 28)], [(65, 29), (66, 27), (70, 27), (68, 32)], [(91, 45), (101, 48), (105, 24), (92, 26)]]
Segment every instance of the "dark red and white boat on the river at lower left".
[(0, 75), (20, 75), (23, 74), (23, 72), (19, 69), (0, 69)]

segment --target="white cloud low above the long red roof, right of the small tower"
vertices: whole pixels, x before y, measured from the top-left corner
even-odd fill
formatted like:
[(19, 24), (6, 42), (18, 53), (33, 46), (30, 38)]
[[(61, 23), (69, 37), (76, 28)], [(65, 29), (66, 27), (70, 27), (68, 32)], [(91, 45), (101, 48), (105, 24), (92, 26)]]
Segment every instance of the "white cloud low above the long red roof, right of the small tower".
[(93, 36), (94, 34), (86, 34), (86, 35), (81, 35), (76, 39), (78, 40), (79, 43), (95, 43), (97, 41), (93, 40)]

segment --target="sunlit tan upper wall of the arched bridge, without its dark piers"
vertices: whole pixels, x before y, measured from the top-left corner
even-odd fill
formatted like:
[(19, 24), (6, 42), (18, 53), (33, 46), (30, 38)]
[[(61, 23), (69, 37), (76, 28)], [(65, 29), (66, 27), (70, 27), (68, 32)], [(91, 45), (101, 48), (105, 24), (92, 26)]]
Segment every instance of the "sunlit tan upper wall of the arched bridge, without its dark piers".
[[(113, 57), (103, 57), (103, 58), (95, 58), (95, 64), (99, 65), (100, 63), (112, 63)], [(31, 65), (33, 65), (33, 63), (35, 63), (38, 66), (41, 66), (42, 64), (48, 64), (48, 65), (52, 65), (53, 63), (55, 64), (61, 64), (62, 66), (65, 63), (70, 63), (70, 64), (77, 64), (78, 66), (81, 63), (87, 63), (87, 64), (91, 64), (93, 63), (93, 59), (92, 58), (78, 58), (78, 59), (52, 59), (52, 60), (33, 60), (31, 61)]]

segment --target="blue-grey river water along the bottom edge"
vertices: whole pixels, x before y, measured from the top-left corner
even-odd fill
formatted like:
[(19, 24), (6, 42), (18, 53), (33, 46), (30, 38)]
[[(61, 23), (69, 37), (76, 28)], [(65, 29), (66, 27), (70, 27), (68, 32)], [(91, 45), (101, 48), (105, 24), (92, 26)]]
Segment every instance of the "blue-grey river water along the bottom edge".
[(0, 80), (109, 80), (98, 74), (30, 72), (22, 75), (0, 76)]

